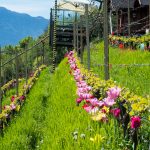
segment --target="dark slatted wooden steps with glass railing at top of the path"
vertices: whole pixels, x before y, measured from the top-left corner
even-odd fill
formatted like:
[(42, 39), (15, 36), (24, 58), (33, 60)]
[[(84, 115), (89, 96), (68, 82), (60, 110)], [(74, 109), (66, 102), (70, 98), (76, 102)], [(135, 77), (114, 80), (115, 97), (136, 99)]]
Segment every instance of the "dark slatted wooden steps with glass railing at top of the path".
[[(53, 12), (55, 10), (51, 9), (50, 17), (50, 46), (53, 45), (53, 34), (54, 34), (54, 20)], [(57, 9), (57, 25), (56, 25), (56, 47), (66, 47), (67, 49), (72, 49), (74, 46), (74, 22), (75, 22), (75, 13), (70, 10)], [(77, 14), (77, 19), (80, 17)], [(76, 29), (78, 33), (78, 39), (80, 43), (80, 27)], [(83, 37), (85, 36), (85, 28), (83, 27)]]

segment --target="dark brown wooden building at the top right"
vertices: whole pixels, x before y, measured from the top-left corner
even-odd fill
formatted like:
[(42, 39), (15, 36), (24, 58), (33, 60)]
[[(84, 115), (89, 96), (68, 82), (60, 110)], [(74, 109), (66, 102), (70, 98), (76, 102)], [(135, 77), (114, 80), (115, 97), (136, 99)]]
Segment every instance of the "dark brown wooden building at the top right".
[[(130, 33), (144, 34), (150, 30), (149, 0), (111, 0), (111, 10), (117, 16), (117, 28), (121, 35), (128, 34), (128, 8), (130, 9)], [(150, 31), (149, 31), (150, 32)]]

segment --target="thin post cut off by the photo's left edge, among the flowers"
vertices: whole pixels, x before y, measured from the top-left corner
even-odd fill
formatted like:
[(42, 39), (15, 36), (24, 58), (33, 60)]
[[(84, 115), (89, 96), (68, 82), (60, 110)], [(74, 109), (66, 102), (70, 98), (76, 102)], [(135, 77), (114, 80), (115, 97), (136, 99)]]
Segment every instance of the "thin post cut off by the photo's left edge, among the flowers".
[[(0, 114), (2, 113), (2, 54), (1, 54), (1, 46), (0, 46)], [(0, 120), (0, 132), (3, 129), (3, 122)]]

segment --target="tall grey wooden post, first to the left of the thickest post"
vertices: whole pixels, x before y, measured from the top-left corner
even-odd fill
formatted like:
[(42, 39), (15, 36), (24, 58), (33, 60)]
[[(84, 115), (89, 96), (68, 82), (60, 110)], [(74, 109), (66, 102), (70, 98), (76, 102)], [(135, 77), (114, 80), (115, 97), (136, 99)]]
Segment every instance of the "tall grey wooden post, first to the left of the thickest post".
[(90, 39), (89, 39), (89, 16), (88, 16), (88, 4), (85, 4), (85, 16), (86, 16), (86, 46), (87, 46), (87, 66), (90, 70)]

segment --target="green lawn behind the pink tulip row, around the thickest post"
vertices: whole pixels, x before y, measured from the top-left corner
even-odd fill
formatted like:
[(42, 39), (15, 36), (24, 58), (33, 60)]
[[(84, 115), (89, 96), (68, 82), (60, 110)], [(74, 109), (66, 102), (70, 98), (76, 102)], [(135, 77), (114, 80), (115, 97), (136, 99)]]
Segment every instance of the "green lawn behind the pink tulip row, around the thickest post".
[[(91, 46), (91, 69), (104, 79), (103, 42)], [(110, 47), (109, 59), (112, 67), (110, 77), (123, 87), (129, 88), (138, 95), (150, 95), (150, 66), (130, 66), (131, 64), (150, 64), (150, 52), (119, 50)], [(87, 66), (87, 52), (84, 53), (84, 64)], [(118, 66), (127, 64), (127, 66)], [(129, 64), (129, 66), (128, 66)]]

